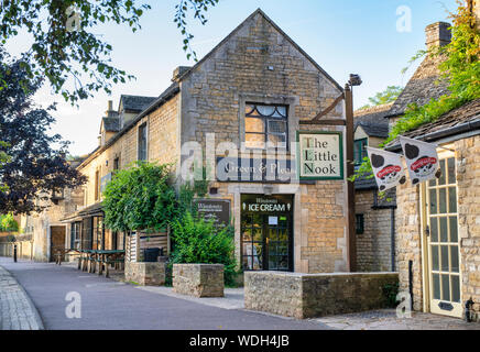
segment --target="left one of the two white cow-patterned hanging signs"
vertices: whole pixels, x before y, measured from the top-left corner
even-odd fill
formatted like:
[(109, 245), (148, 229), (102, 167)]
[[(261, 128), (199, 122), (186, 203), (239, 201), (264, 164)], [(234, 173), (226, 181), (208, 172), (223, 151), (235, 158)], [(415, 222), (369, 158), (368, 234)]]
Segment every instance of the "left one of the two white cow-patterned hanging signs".
[(380, 190), (383, 191), (396, 187), (399, 184), (405, 184), (402, 155), (370, 146), (367, 146), (367, 152)]

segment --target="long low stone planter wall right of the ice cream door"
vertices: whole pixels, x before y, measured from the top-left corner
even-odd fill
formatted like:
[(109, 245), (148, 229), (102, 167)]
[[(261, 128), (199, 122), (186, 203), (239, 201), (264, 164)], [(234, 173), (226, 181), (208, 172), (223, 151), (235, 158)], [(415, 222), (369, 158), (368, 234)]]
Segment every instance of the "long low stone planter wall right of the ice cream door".
[(397, 273), (244, 273), (246, 309), (297, 319), (386, 308), (383, 287)]

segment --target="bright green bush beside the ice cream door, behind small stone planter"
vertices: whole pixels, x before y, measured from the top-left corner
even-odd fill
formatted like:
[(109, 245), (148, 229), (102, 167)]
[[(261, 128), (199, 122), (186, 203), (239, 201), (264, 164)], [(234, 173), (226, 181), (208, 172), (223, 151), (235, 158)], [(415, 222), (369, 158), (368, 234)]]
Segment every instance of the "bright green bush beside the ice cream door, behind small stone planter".
[(172, 263), (223, 264), (225, 282), (234, 285), (236, 261), (231, 227), (218, 228), (212, 221), (186, 212), (172, 227)]

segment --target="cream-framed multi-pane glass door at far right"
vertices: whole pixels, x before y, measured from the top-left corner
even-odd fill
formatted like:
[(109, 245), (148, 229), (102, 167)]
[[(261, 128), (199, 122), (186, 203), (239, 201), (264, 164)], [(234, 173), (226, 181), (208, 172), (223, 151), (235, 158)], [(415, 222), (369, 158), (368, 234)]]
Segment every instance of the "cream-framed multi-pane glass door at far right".
[(461, 317), (460, 251), (455, 157), (440, 160), (441, 177), (427, 185), (430, 311)]

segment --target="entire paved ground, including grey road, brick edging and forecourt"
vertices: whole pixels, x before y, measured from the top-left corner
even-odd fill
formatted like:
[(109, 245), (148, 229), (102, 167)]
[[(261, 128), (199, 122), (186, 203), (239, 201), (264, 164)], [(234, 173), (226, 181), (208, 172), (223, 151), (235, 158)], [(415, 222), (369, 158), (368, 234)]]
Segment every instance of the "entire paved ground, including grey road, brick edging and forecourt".
[[(296, 320), (246, 310), (242, 288), (225, 293), (225, 298), (196, 298), (172, 287), (134, 286), (120, 276), (79, 272), (72, 264), (12, 263), (0, 257), (1, 321), (8, 321), (0, 324), (3, 329), (480, 330), (480, 323), (423, 312), (400, 319), (394, 309)], [(72, 299), (79, 304), (75, 311), (80, 317), (72, 317)]]

